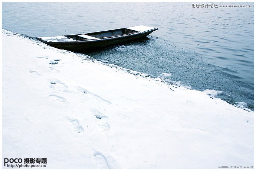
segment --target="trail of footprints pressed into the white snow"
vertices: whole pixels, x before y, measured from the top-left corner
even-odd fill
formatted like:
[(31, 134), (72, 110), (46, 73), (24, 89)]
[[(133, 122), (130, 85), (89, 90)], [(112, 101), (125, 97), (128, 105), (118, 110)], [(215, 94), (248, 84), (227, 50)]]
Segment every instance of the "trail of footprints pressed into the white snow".
[[(48, 57), (37, 57), (37, 58), (48, 59)], [(53, 61), (50, 61), (49, 64), (50, 65), (57, 65), (59, 61), (60, 61), (60, 59), (54, 59)], [(49, 69), (50, 69), (50, 72), (53, 73), (53, 74), (58, 74), (60, 72), (52, 66), (49, 67)], [(33, 77), (41, 76), (41, 74), (39, 74), (37, 71), (29, 70), (28, 72)], [(89, 90), (84, 89), (82, 87), (77, 86), (75, 88), (76, 92), (73, 92), (73, 91), (68, 90), (68, 86), (65, 83), (59, 81), (58, 79), (48, 79), (47, 81), (49, 82), (49, 88), (52, 89), (52, 90), (55, 90), (57, 92), (72, 93), (72, 94), (80, 93), (80, 94), (86, 95), (88, 98), (91, 98), (91, 99), (93, 99), (97, 102), (101, 102), (104, 105), (111, 105), (111, 102), (109, 102), (108, 100), (105, 100), (101, 96), (96, 95), (92, 92), (89, 92)], [(67, 103), (68, 102), (62, 96), (51, 94), (48, 97), (57, 101), (57, 102), (61, 102), (61, 103)], [(102, 132), (106, 132), (106, 131), (110, 130), (110, 126), (107, 122), (108, 116), (102, 114), (97, 109), (90, 109), (90, 112), (93, 114), (93, 117), (95, 117), (95, 119), (97, 120), (99, 129)], [(64, 120), (69, 124), (70, 128), (72, 129), (72, 131), (74, 133), (79, 134), (79, 133), (84, 132), (83, 126), (80, 124), (78, 119), (74, 119), (72, 117), (67, 116), (67, 117), (64, 117)], [(96, 165), (98, 165), (99, 169), (110, 169), (107, 158), (98, 151), (93, 154), (93, 161)]]

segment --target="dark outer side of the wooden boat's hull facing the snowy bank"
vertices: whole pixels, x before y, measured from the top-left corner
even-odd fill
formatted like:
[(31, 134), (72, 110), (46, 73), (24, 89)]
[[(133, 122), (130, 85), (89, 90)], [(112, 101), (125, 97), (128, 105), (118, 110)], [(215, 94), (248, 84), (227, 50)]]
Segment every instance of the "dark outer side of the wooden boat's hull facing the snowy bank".
[(155, 30), (157, 30), (157, 28), (150, 31), (145, 31), (143, 33), (133, 33), (133, 34), (120, 35), (115, 37), (99, 38), (96, 40), (84, 40), (84, 41), (74, 41), (74, 42), (48, 42), (40, 38), (39, 40), (44, 42), (47, 45), (50, 45), (58, 49), (65, 49), (68, 51), (75, 51), (75, 52), (84, 52), (84, 51), (88, 51), (89, 49), (101, 48), (109, 45), (114, 45), (122, 42), (140, 39), (140, 38), (146, 37), (147, 35), (149, 35)]

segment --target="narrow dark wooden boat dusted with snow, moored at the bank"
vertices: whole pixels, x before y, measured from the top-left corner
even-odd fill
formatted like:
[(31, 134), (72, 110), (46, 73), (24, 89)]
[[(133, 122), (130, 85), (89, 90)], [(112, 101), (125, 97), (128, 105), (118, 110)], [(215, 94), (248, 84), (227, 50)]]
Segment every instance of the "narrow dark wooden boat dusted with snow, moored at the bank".
[(105, 47), (146, 37), (155, 30), (157, 30), (157, 28), (138, 25), (115, 30), (56, 37), (39, 37), (37, 39), (55, 48), (83, 52), (92, 48)]

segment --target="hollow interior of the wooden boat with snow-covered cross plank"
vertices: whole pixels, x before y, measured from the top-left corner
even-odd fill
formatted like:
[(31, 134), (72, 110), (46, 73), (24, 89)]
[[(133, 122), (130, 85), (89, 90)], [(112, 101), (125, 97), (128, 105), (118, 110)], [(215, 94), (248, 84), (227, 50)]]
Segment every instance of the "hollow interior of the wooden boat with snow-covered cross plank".
[(92, 39), (114, 37), (114, 36), (119, 36), (124, 34), (137, 33), (137, 32), (138, 31), (130, 30), (127, 28), (120, 28), (116, 30), (99, 31), (99, 32), (87, 33), (87, 34), (65, 35), (65, 37), (69, 37), (74, 40), (92, 40)]

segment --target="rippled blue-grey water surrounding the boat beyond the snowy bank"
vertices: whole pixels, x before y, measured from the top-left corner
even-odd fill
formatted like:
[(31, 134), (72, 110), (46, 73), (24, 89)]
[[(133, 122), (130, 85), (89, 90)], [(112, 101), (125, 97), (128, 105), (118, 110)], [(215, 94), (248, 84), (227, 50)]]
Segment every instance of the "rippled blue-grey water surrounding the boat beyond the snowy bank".
[[(209, 3), (210, 4), (210, 3)], [(254, 109), (254, 4), (2, 3), (2, 28), (33, 37), (148, 25), (148, 38), (88, 52), (93, 58), (159, 76)], [(252, 8), (220, 8), (252, 5)]]

